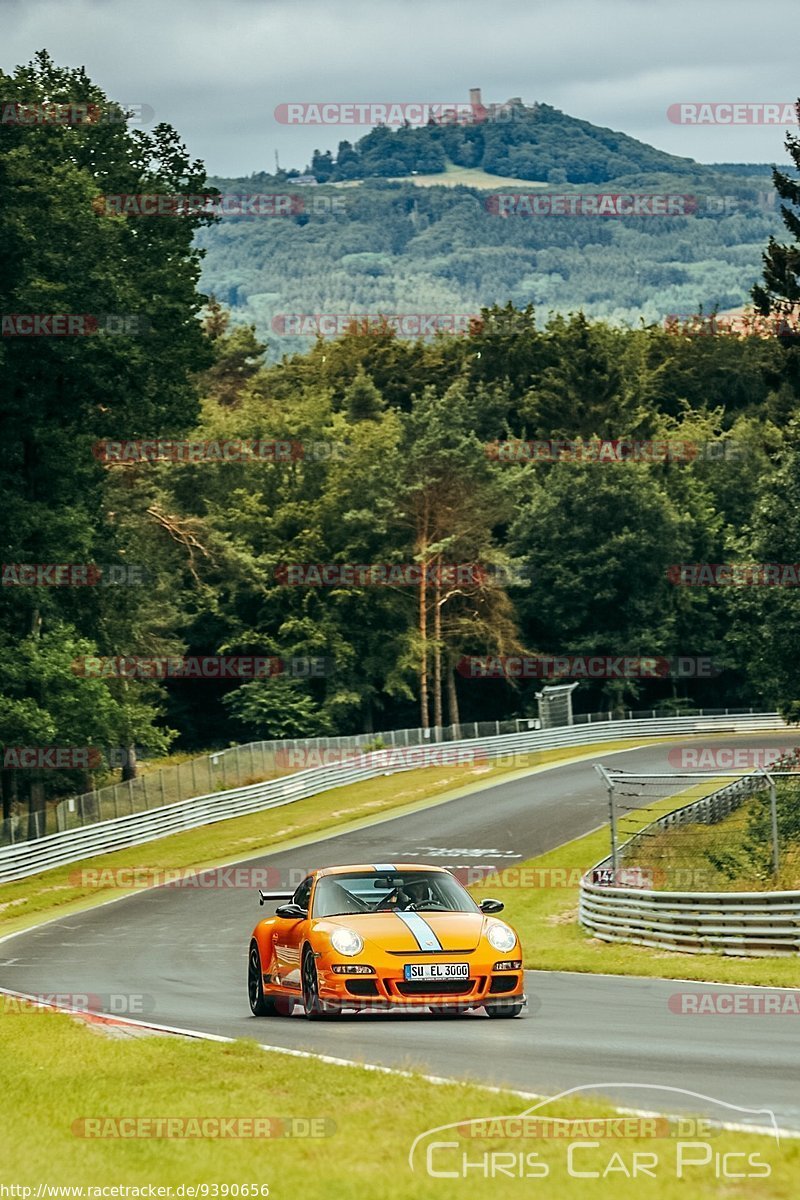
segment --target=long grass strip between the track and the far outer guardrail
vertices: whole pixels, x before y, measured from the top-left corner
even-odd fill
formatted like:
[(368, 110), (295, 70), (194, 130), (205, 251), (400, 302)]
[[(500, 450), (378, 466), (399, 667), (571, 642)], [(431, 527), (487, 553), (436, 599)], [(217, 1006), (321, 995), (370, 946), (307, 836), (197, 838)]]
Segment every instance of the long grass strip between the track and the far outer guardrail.
[(50, 916), (66, 916), (80, 908), (125, 895), (124, 888), (96, 887), (76, 878), (84, 869), (103, 871), (145, 868), (152, 871), (219, 866), (258, 854), (287, 850), (315, 835), (372, 823), (387, 816), (413, 811), (482, 787), (487, 781), (511, 779), (530, 768), (570, 758), (650, 745), (643, 739), (608, 742), (596, 746), (571, 746), (518, 756), (503, 764), (455, 764), (425, 767), (402, 774), (350, 784), (297, 800), (278, 809), (265, 809), (243, 817), (172, 834), (131, 850), (120, 850), (84, 859), (68, 866), (43, 871), (14, 883), (0, 886), (0, 936), (26, 929)]

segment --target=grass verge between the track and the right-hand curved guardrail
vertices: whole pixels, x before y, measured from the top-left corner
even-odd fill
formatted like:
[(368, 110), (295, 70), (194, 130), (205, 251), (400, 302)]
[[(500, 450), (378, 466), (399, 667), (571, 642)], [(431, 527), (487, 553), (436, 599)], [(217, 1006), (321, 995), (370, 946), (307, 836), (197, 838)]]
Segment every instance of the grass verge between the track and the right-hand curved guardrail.
[[(692, 787), (684, 802), (698, 798), (700, 788), (714, 791), (718, 781)], [(646, 812), (628, 814), (626, 832), (651, 821), (660, 810), (676, 806), (675, 798), (649, 805)], [(644, 946), (602, 942), (578, 924), (579, 876), (609, 852), (608, 829), (566, 842), (518, 866), (487, 876), (471, 890), (503, 900), (509, 922), (518, 930), (531, 971), (579, 971), (597, 974), (697, 979), (706, 983), (756, 984), (796, 988), (796, 959), (729, 958), (721, 954), (675, 954)], [(558, 872), (558, 874), (553, 874)]]

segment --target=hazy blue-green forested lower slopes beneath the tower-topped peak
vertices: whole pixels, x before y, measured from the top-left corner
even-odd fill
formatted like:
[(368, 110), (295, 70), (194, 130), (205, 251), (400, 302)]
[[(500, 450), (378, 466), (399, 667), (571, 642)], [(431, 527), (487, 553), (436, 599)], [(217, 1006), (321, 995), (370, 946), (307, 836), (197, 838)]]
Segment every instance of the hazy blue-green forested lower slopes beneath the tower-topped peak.
[[(270, 194), (284, 181), (215, 180)], [(558, 187), (558, 193), (576, 188)], [(297, 316), (470, 314), (509, 300), (615, 325), (662, 324), (748, 299), (760, 256), (781, 228), (769, 175), (678, 186), (658, 176), (613, 193), (693, 197), (686, 216), (500, 216), (489, 192), (371, 180), (356, 188), (296, 187), (307, 211), (231, 216), (199, 232), (201, 287), (255, 326), (267, 358), (308, 348)], [(301, 194), (302, 192), (302, 194)], [(289, 319), (287, 319), (289, 318)]]

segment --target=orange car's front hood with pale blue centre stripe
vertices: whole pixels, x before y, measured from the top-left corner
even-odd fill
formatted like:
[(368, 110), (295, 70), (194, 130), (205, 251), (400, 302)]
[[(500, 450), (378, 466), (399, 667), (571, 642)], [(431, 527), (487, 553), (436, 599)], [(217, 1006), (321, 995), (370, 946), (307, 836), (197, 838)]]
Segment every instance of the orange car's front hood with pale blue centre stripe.
[(315, 925), (354, 929), (365, 942), (384, 950), (419, 954), (428, 950), (474, 950), (483, 934), (481, 912), (354, 912), (326, 917)]

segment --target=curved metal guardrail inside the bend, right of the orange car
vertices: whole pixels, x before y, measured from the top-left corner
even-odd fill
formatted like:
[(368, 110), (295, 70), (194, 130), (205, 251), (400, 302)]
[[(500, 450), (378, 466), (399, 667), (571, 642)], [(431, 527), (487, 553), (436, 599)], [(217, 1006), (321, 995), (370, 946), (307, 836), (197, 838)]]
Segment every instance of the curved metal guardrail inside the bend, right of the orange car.
[[(763, 775), (748, 775), (645, 828), (721, 820), (764, 786)], [(609, 864), (610, 857), (594, 870)], [(763, 958), (800, 953), (800, 892), (654, 892), (590, 880), (588, 874), (581, 881), (578, 919), (601, 941), (684, 954)]]

